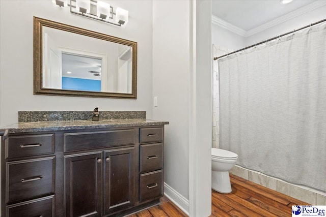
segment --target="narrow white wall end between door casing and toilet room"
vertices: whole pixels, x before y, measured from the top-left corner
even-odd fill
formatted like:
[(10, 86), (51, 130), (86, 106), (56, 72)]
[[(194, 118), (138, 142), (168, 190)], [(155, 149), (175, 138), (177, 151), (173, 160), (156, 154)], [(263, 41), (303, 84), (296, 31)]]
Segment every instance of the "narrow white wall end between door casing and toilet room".
[[(212, 147), (212, 42), (211, 1), (196, 1), (196, 144), (191, 160), (195, 162), (195, 188), (191, 186), (192, 216), (211, 214), (211, 147)], [(192, 127), (192, 126), (191, 126)], [(191, 168), (192, 169), (192, 168)], [(192, 179), (192, 177), (191, 177)], [(194, 185), (194, 182), (191, 182)], [(194, 194), (195, 191), (195, 194)], [(196, 203), (194, 203), (196, 201)]]

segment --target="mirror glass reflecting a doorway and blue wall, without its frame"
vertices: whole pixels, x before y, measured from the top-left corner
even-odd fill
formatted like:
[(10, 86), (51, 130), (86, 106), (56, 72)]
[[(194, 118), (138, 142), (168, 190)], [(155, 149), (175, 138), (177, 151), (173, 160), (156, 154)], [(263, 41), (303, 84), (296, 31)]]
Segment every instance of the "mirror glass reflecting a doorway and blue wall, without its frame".
[(130, 46), (49, 27), (43, 34), (43, 87), (131, 93)]

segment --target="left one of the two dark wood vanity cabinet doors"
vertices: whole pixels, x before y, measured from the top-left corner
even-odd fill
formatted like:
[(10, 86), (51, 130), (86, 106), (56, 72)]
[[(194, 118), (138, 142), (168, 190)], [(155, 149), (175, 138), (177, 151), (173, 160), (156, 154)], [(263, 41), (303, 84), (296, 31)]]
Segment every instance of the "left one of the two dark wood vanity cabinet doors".
[(65, 156), (66, 216), (101, 216), (102, 152)]

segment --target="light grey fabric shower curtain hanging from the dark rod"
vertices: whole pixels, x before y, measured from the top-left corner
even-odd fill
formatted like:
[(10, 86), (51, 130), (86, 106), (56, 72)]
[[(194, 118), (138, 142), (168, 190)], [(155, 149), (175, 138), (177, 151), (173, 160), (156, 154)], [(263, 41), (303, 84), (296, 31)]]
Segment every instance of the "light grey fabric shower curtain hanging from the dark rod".
[(220, 147), (326, 192), (326, 23), (219, 59)]

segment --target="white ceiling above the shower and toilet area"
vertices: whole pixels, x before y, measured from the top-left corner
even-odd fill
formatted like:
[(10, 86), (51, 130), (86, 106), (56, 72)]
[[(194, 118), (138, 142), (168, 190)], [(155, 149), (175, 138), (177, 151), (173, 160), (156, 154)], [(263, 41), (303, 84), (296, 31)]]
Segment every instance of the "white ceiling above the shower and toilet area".
[(212, 15), (249, 31), (316, 1), (293, 0), (284, 5), (280, 0), (212, 0)]

